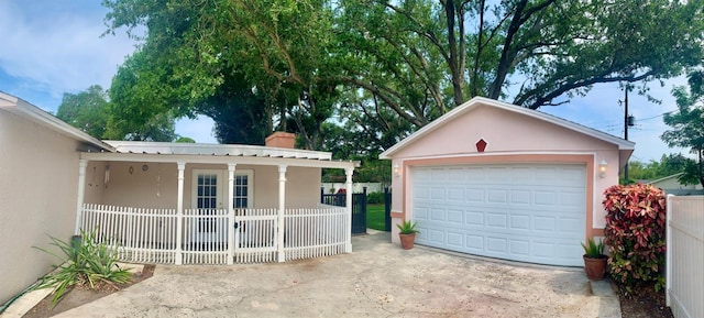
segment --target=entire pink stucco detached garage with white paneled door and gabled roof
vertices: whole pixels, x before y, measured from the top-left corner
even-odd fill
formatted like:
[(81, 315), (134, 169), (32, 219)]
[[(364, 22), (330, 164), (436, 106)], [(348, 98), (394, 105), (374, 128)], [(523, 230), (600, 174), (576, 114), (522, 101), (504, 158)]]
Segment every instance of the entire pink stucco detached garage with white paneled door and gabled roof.
[(603, 235), (602, 193), (632, 151), (574, 122), (473, 98), (380, 157), (394, 169), (394, 223), (417, 221), (416, 243), (581, 266), (580, 242)]

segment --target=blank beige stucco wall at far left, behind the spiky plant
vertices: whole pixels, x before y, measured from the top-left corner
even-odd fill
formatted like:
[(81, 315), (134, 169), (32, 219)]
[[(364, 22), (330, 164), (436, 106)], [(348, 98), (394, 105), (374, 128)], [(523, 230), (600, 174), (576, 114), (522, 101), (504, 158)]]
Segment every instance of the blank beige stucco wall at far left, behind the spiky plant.
[(0, 109), (0, 304), (52, 270), (76, 221), (79, 143)]

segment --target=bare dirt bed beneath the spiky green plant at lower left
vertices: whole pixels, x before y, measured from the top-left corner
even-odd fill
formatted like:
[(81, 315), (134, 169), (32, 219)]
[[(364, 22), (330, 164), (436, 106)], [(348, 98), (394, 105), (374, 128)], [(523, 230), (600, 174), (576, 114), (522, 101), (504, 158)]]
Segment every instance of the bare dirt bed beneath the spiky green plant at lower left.
[[(141, 273), (135, 273), (132, 275), (132, 281), (124, 285), (112, 286), (112, 285), (102, 285), (98, 286), (96, 289), (87, 289), (85, 287), (75, 287), (64, 294), (61, 300), (56, 304), (54, 308), (52, 308), (52, 297), (53, 294), (50, 294), (44, 299), (42, 299), (38, 304), (36, 304), (30, 311), (22, 316), (23, 318), (43, 318), (51, 317), (57, 315), (59, 312), (66, 311), (68, 309), (73, 309), (79, 307), (81, 305), (88, 304), (96, 299), (108, 296), (119, 289), (123, 289), (130, 287), (134, 284), (138, 284), (148, 277), (154, 275), (154, 265), (144, 265), (144, 268)], [(117, 288), (116, 288), (117, 287)]]

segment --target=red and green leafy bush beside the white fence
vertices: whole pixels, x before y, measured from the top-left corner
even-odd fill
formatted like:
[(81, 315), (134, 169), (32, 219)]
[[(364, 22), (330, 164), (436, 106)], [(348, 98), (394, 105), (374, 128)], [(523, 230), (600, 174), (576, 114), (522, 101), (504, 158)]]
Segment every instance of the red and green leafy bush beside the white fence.
[(604, 191), (605, 243), (614, 279), (630, 290), (639, 282), (664, 287), (666, 196), (652, 185), (616, 185)]

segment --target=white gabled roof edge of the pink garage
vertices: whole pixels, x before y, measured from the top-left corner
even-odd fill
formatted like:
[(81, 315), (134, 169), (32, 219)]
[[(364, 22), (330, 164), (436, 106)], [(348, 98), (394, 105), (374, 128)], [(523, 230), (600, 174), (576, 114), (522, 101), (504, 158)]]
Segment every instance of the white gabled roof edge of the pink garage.
[[(494, 100), (485, 97), (474, 97), (471, 100), (466, 101), (465, 103), (458, 106), (457, 108), (452, 109), (450, 112), (443, 114), (442, 117), (422, 127), (421, 129), (414, 132), (413, 134), (410, 134), (409, 136), (400, 141), (399, 143), (395, 144), (394, 146), (389, 147), (388, 150), (380, 154), (380, 158), (392, 158), (394, 154), (396, 154), (407, 145), (411, 144), (414, 141), (421, 139), (422, 136), (431, 133), (436, 129), (442, 127), (446, 122), (454, 120), (455, 118), (459, 118), (477, 107), (494, 107), (494, 108), (512, 111), (515, 113), (520, 113), (520, 114), (535, 118), (544, 122), (549, 122), (549, 123), (592, 136), (594, 139), (602, 140), (602, 141), (612, 143), (614, 145), (617, 145), (619, 151), (626, 152), (627, 154), (630, 154), (630, 152), (632, 152), (636, 145), (636, 143), (631, 141), (627, 141), (622, 138), (617, 138), (615, 135), (607, 134), (605, 132), (601, 132), (598, 130), (595, 130), (585, 125), (581, 125), (579, 123), (562, 119), (549, 113), (544, 113), (538, 110), (532, 110), (525, 107), (519, 107), (519, 106), (515, 106), (512, 103), (507, 103), (507, 102), (503, 102), (503, 101), (498, 101), (498, 100)], [(625, 157), (627, 160), (628, 155), (622, 156), (622, 157)]]

